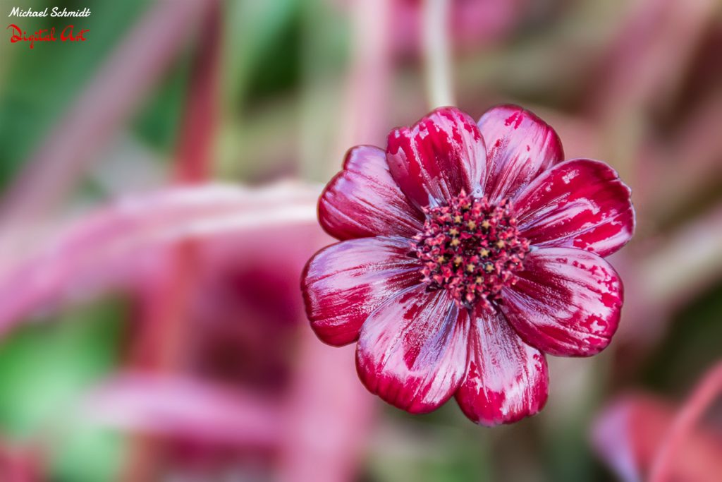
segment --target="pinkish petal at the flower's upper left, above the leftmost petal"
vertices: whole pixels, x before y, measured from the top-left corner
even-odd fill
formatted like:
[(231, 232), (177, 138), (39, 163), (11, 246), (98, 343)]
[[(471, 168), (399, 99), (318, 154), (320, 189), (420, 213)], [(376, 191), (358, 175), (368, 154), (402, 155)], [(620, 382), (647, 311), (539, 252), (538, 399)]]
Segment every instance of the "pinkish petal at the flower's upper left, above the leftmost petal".
[(422, 212), (388, 172), (386, 152), (373, 146), (349, 150), (343, 171), (321, 194), (318, 219), (327, 233), (342, 240), (396, 234), (410, 238), (423, 225)]

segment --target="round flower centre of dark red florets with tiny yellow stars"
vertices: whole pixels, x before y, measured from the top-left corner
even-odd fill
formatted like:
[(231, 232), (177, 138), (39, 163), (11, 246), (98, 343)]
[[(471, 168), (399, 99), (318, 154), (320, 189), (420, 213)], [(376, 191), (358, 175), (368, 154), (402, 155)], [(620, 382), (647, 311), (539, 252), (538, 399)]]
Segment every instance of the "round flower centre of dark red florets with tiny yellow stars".
[(456, 304), (471, 309), (488, 306), (516, 283), (529, 241), (519, 236), (508, 199), (491, 205), (461, 191), (448, 205), (424, 212), (424, 231), (414, 236), (412, 249), (430, 289), (445, 288)]

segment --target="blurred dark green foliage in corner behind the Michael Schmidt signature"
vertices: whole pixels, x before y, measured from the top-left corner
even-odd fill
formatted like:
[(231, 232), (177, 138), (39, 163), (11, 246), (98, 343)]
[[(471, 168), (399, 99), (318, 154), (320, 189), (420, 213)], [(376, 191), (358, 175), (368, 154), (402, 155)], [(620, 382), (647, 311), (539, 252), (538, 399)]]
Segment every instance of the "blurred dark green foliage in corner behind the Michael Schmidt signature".
[[(18, 4), (19, 5), (19, 4)], [(23, 7), (87, 7), (87, 2), (38, 1)], [(136, 17), (148, 3), (144, 0), (93, 2), (92, 15), (83, 19), (92, 42), (72, 45), (61, 42), (29, 46), (4, 46), (4, 68), (8, 74), (0, 90), (0, 187), (6, 186), (20, 163), (32, 155), (52, 126), (71, 106), (79, 92), (110, 57)], [(17, 19), (27, 32), (58, 26), (58, 19), (32, 17)], [(62, 23), (59, 25), (63, 25)]]

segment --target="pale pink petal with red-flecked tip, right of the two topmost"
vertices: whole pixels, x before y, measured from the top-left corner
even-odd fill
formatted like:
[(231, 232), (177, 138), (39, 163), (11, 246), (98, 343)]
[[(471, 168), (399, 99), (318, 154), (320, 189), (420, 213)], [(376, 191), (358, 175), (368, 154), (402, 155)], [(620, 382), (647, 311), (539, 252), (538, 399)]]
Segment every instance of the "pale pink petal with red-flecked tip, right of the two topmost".
[(497, 106), (479, 119), (487, 145), (484, 193), (492, 202), (513, 197), (523, 186), (564, 159), (562, 141), (546, 122), (517, 106)]

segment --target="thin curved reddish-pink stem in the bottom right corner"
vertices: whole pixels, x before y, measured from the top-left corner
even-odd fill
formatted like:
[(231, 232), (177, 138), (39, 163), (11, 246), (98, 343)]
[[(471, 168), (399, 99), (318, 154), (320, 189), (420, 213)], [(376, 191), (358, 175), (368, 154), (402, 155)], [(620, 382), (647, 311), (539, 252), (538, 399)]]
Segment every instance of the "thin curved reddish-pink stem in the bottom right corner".
[(668, 482), (672, 478), (674, 457), (684, 441), (692, 434), (695, 425), (716, 398), (722, 394), (722, 362), (705, 374), (702, 382), (684, 404), (657, 452), (649, 476), (650, 482)]

